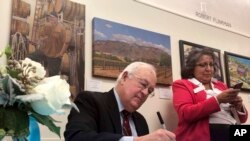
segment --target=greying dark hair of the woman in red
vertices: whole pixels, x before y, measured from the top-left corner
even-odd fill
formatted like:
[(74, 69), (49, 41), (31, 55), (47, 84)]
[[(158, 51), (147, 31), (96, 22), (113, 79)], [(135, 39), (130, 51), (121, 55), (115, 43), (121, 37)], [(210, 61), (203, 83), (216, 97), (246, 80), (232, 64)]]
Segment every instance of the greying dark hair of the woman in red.
[(208, 55), (211, 56), (214, 60), (214, 72), (216, 72), (218, 68), (217, 56), (211, 49), (193, 49), (189, 52), (185, 65), (182, 67), (181, 77), (183, 79), (193, 78), (194, 77), (194, 68), (197, 61), (201, 56)]

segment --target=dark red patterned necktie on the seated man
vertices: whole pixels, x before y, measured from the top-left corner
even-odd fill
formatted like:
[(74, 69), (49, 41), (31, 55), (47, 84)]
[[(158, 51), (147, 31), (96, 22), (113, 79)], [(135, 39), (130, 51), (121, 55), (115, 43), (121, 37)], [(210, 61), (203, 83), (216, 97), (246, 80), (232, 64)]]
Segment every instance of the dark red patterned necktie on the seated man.
[(129, 125), (129, 116), (131, 115), (131, 113), (129, 113), (126, 110), (123, 110), (122, 115), (123, 115), (123, 123), (122, 123), (123, 134), (125, 136), (132, 136), (131, 128)]

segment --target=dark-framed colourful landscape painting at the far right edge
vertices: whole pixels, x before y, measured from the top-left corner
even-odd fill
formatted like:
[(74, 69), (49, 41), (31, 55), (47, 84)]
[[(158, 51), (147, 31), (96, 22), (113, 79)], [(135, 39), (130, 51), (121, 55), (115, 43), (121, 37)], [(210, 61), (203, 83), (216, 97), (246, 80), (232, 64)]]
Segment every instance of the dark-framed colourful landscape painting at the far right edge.
[(250, 57), (224, 52), (228, 87), (242, 82), (242, 91), (250, 91)]

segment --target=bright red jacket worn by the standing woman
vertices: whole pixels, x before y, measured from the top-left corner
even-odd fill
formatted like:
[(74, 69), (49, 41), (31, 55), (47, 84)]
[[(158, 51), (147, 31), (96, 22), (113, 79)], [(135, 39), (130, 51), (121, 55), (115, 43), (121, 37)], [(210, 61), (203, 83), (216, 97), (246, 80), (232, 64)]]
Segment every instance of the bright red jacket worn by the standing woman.
[[(212, 83), (221, 91), (227, 89), (220, 81)], [(210, 141), (209, 115), (220, 111), (220, 107), (215, 97), (206, 98), (205, 90), (194, 93), (197, 87), (187, 79), (173, 83), (173, 105), (179, 118), (176, 141)], [(239, 115), (239, 118), (243, 123), (247, 114)]]

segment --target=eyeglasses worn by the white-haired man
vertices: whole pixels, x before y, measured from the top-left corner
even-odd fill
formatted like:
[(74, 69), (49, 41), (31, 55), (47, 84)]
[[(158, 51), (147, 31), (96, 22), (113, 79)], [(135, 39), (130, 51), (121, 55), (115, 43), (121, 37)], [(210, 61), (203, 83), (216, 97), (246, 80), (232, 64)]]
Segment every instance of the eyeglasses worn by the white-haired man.
[(141, 88), (141, 90), (145, 90), (147, 89), (147, 95), (151, 95), (154, 96), (154, 87), (151, 87), (149, 82), (135, 74), (131, 74), (134, 76), (134, 78), (136, 78), (138, 84), (140, 85), (139, 87)]

